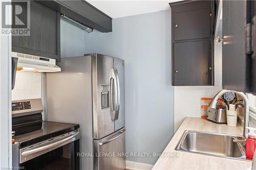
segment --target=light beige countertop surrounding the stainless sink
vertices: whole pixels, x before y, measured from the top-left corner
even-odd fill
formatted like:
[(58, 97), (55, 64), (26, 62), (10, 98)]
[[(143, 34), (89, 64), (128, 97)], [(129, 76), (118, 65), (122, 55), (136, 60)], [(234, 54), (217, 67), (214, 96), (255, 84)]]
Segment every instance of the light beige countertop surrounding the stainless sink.
[(228, 127), (209, 122), (208, 120), (197, 117), (186, 117), (180, 128), (175, 133), (174, 137), (167, 144), (163, 153), (174, 153), (177, 157), (161, 156), (153, 167), (156, 169), (248, 169), (251, 167), (251, 162), (244, 160), (228, 159), (216, 156), (201, 155), (195, 153), (187, 153), (176, 151), (175, 147), (179, 142), (185, 130), (205, 131), (224, 133), (232, 135), (242, 135), (243, 128)]

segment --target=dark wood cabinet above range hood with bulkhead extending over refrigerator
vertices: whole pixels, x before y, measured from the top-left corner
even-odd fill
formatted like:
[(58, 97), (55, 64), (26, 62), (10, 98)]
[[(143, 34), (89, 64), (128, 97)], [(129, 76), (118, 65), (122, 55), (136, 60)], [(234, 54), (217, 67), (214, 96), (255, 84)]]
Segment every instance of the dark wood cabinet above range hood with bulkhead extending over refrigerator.
[[(29, 0), (28, 0), (29, 1)], [(90, 32), (112, 32), (112, 18), (86, 1), (29, 1), (30, 35), (12, 36), (12, 51), (60, 61), (60, 17)], [(24, 10), (27, 7), (20, 3)], [(26, 17), (26, 16), (24, 16)], [(74, 22), (73, 22), (74, 21)], [(65, 35), (63, 35), (65, 36)]]

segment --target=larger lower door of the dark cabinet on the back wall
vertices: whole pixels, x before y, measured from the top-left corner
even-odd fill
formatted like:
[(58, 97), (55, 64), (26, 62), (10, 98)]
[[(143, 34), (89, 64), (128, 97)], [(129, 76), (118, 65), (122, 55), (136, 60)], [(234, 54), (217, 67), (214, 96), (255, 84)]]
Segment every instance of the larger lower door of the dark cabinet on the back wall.
[(209, 82), (210, 42), (193, 41), (174, 44), (174, 85), (206, 86)]

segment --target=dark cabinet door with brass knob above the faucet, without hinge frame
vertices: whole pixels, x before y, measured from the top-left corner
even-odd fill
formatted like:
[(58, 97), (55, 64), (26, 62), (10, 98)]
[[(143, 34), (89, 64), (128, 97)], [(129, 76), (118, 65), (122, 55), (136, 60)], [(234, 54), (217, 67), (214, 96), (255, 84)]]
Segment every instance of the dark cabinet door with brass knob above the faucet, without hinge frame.
[(245, 2), (223, 1), (223, 89), (249, 91), (249, 60), (245, 52)]

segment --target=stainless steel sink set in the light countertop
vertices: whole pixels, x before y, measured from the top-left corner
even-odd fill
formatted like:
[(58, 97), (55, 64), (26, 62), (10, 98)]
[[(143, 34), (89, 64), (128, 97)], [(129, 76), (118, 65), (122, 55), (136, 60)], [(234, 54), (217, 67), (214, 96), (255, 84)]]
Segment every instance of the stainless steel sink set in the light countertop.
[(231, 159), (248, 160), (245, 157), (244, 146), (241, 143), (233, 142), (233, 139), (242, 139), (242, 136), (200, 131), (184, 131), (175, 150)]

